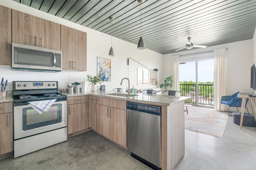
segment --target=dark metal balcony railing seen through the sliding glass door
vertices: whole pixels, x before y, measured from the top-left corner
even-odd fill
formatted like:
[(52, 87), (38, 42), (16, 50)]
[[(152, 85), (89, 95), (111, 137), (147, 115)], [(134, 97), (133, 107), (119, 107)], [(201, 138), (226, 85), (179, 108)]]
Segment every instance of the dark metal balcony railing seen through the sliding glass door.
[[(214, 105), (213, 84), (198, 84), (198, 104)], [(192, 97), (185, 103), (196, 104), (196, 84), (180, 84), (181, 96)]]

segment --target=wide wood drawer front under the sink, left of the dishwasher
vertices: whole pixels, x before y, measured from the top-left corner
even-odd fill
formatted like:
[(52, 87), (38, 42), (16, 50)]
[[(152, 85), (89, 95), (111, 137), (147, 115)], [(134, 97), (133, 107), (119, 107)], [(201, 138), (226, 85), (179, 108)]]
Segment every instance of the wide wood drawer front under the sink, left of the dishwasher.
[(97, 104), (126, 110), (126, 101), (97, 97)]

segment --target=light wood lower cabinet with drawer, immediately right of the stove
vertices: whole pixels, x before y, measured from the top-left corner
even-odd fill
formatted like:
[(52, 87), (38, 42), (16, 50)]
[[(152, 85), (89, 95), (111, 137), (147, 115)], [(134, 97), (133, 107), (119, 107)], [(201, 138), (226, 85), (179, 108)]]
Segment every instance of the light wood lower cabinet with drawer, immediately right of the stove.
[(68, 97), (68, 134), (88, 128), (88, 96)]

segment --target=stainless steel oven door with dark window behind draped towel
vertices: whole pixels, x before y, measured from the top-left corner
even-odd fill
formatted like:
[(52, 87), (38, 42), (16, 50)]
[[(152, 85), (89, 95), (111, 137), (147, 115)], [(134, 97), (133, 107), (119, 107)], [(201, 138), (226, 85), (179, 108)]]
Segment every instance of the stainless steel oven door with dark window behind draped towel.
[(14, 106), (14, 139), (67, 127), (67, 101), (56, 101), (39, 114), (29, 105)]

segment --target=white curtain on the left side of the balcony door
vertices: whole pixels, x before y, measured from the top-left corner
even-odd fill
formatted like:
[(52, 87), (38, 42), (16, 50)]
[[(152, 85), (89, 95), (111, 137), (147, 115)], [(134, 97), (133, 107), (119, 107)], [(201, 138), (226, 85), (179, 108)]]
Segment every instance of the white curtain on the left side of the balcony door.
[(172, 83), (172, 90), (180, 91), (179, 79), (179, 57), (171, 56), (171, 76), (174, 83)]

